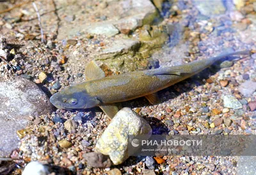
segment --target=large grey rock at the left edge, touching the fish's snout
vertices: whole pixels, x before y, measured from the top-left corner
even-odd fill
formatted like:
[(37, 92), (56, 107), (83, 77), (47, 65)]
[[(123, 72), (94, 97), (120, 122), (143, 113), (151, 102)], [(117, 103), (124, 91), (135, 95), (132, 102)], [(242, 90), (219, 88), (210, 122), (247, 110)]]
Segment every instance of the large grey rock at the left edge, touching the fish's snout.
[(45, 93), (28, 79), (0, 79), (0, 84), (0, 156), (8, 156), (18, 148), (16, 132), (28, 124), (29, 116), (47, 114), (52, 105)]

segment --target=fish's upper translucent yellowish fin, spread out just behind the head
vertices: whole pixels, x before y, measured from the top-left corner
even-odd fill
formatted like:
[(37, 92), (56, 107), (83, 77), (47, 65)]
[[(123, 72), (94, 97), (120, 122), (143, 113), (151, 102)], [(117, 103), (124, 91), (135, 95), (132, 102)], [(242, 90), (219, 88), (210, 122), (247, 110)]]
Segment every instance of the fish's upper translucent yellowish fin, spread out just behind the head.
[(84, 75), (86, 80), (95, 80), (105, 77), (105, 73), (94, 60), (90, 61), (85, 66)]

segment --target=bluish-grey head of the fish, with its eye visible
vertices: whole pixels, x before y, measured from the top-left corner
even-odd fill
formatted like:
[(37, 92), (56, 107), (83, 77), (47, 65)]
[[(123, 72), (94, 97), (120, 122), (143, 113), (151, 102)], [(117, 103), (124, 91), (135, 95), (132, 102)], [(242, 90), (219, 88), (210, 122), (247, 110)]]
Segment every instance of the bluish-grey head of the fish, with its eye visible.
[(100, 103), (96, 97), (72, 86), (52, 95), (50, 102), (58, 109), (88, 109)]

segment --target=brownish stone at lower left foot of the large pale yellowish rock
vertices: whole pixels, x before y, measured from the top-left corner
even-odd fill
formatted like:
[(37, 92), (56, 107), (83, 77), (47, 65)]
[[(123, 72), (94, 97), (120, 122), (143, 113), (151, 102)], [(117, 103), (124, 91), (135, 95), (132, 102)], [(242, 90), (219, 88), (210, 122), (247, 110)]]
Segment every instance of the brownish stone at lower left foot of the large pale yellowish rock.
[(102, 155), (102, 153), (84, 153), (83, 157), (86, 160), (86, 164), (90, 167), (108, 168), (112, 165), (109, 156)]

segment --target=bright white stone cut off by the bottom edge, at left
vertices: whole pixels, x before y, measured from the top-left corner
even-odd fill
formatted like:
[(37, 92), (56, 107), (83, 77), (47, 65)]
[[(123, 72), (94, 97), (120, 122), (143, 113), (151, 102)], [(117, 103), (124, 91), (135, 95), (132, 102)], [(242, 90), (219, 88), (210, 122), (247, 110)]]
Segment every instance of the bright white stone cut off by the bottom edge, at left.
[(48, 175), (50, 174), (48, 167), (41, 164), (40, 162), (29, 162), (26, 165), (22, 175)]

